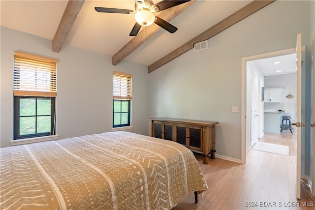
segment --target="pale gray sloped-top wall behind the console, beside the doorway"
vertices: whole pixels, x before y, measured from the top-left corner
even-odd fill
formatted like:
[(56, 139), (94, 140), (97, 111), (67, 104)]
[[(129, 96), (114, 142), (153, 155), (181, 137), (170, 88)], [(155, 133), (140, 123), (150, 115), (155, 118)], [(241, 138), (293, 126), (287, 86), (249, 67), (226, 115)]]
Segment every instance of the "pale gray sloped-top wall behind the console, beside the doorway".
[(298, 33), (310, 46), (310, 4), (275, 1), (150, 73), (149, 117), (218, 121), (217, 154), (240, 160), (241, 113), (231, 108), (241, 107), (241, 60), (293, 48)]

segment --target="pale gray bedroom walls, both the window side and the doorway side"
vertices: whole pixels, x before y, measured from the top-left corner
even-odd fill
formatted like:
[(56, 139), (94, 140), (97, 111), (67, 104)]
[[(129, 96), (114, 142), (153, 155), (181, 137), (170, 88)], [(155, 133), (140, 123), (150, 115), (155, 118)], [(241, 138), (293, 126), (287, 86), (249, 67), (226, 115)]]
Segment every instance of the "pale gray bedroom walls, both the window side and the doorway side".
[(53, 53), (51, 40), (1, 27), (0, 146), (13, 139), (13, 52), (23, 51), (60, 60), (60, 138), (111, 130), (115, 70), (134, 75), (133, 132), (150, 134), (148, 117), (219, 121), (217, 153), (241, 159), (241, 113), (231, 112), (241, 107), (241, 59), (293, 48), (297, 33), (310, 59), (314, 7), (314, 1), (275, 1), (211, 38), (207, 50), (190, 50), (150, 74), (145, 66), (127, 61), (113, 66), (108, 57), (70, 46)]

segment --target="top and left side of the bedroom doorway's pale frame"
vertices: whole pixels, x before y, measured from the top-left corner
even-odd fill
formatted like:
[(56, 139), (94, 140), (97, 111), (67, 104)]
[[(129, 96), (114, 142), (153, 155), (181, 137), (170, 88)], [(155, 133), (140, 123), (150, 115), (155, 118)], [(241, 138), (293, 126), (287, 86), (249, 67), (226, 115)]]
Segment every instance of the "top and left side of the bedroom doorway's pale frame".
[[(246, 68), (246, 63), (247, 61), (250, 61), (250, 60), (264, 59), (264, 58), (288, 55), (288, 54), (293, 54), (293, 53), (296, 53), (295, 48), (290, 48), (290, 49), (242, 58), (242, 69), (241, 69), (241, 75), (242, 75), (242, 80), (241, 80), (241, 85), (242, 85), (241, 87), (241, 91), (242, 91), (241, 93), (241, 100), (242, 100), (241, 102), (241, 163), (242, 164), (246, 164), (247, 142), (250, 142), (250, 138), (251, 138), (251, 109), (250, 109), (251, 88), (249, 87), (250, 84), (247, 84), (247, 81), (251, 80), (251, 71)], [(246, 116), (248, 116), (248, 118), (246, 118)]]

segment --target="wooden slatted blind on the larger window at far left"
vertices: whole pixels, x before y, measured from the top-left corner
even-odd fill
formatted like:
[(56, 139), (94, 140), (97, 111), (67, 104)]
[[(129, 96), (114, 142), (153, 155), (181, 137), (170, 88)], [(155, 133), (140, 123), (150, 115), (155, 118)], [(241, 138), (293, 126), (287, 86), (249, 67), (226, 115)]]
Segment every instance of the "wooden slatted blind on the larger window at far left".
[(56, 59), (14, 53), (15, 96), (57, 96)]

